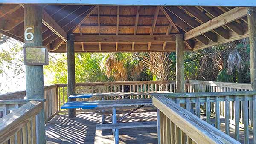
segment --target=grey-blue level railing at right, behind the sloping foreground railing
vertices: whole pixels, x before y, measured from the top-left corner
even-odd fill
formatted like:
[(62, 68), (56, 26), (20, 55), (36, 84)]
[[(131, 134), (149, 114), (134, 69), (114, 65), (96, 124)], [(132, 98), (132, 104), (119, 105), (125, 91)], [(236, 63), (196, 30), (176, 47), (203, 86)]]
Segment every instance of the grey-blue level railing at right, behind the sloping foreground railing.
[[(250, 129), (256, 143), (256, 91), (169, 93), (164, 96), (176, 104), (185, 104), (188, 111), (204, 118), (217, 129), (224, 123), (227, 135), (230, 134), (230, 124), (235, 125), (235, 138), (238, 141), (241, 139), (239, 127), (242, 127), (245, 144), (249, 144)], [(201, 115), (201, 110), (204, 110), (205, 117)]]

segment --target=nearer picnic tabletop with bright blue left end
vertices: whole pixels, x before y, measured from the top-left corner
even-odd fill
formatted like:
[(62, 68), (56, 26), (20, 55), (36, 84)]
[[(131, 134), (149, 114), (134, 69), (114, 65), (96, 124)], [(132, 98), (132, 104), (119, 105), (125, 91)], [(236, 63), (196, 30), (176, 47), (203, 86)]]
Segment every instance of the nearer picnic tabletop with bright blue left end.
[(152, 105), (152, 99), (122, 99), (122, 100), (99, 100), (99, 101), (70, 101), (61, 106), (61, 109), (93, 109), (96, 107), (125, 107), (137, 105)]

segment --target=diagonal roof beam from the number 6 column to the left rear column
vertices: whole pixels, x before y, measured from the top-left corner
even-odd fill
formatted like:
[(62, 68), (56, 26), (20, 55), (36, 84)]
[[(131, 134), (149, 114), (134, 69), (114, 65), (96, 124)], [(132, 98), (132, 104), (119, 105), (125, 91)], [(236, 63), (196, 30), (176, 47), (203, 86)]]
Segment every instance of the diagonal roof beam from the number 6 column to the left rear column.
[(53, 20), (53, 18), (45, 11), (43, 10), (42, 14), (42, 21), (47, 28), (52, 30), (58, 37), (60, 37), (62, 40), (67, 41), (67, 33), (61, 28), (61, 26), (58, 25), (58, 23)]

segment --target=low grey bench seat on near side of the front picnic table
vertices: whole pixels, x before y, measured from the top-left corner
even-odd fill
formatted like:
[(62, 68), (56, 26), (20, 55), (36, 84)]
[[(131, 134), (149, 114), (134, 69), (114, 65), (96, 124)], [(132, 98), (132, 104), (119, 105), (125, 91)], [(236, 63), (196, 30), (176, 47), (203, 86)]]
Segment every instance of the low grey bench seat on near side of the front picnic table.
[(116, 124), (97, 124), (96, 130), (139, 128), (139, 127), (157, 127), (157, 121), (128, 122), (128, 123), (116, 123)]

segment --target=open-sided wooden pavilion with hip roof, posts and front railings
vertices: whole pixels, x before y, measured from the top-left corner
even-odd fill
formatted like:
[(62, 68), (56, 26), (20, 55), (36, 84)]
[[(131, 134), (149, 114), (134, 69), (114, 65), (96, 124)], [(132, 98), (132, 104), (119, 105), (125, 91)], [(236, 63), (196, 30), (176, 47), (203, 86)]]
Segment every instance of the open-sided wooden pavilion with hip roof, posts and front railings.
[[(252, 124), (254, 138), (253, 143), (256, 144), (256, 109), (254, 109), (256, 106), (256, 93), (254, 91), (249, 93), (225, 93), (223, 91), (224, 93), (219, 95), (214, 93), (204, 93), (202, 94), (202, 97), (205, 97), (206, 99), (203, 101), (199, 99), (199, 96), (198, 99), (194, 99), (196, 97), (195, 95), (182, 94), (184, 92), (192, 92), (192, 89), (186, 87), (186, 83), (184, 81), (184, 51), (196, 51), (210, 46), (240, 40), (246, 37), (250, 38), (250, 90), (256, 90), (256, 1), (215, 0), (213, 2), (205, 0), (172, 0), (165, 2), (160, 0), (158, 2), (153, 0), (142, 0), (138, 2), (136, 0), (130, 0), (121, 2), (116, 0), (1, 0), (0, 3), (0, 33), (24, 42), (24, 49), (26, 49), (26, 47), (37, 48), (43, 46), (47, 48), (47, 52), (67, 52), (67, 96), (75, 94), (76, 86), (78, 86), (75, 84), (75, 52), (175, 51), (176, 82), (173, 84), (173, 92), (180, 93), (180, 96), (177, 96), (176, 94), (165, 96), (170, 99), (174, 99), (174, 97), (177, 96), (175, 97), (177, 99), (175, 99), (176, 103), (186, 103), (187, 111), (181, 110), (182, 113), (185, 114), (191, 110), (191, 108), (189, 108), (191, 107), (190, 103), (195, 103), (195, 109), (198, 115), (198, 112), (200, 111), (200, 102), (205, 102), (206, 119), (207, 122), (209, 122), (211, 112), (209, 111), (211, 108), (209, 105), (210, 103), (217, 103), (221, 101), (226, 101), (226, 103), (228, 101), (236, 102), (239, 101), (239, 99), (236, 98), (236, 95), (241, 95), (241, 98), (239, 98), (242, 101), (246, 101), (243, 104), (244, 109), (248, 109), (248, 107), (250, 107), (246, 104), (247, 101), (252, 101), (252, 109), (249, 112), (252, 112), (250, 117), (252, 120), (251, 123), (254, 123)], [(25, 53), (25, 55), (27, 54)], [(28, 99), (45, 99), (46, 95), (48, 95), (45, 93), (44, 89), (42, 65), (43, 64), (38, 65), (35, 63), (26, 65), (26, 96)], [(132, 84), (130, 84), (130, 92), (131, 85)], [(189, 86), (191, 88), (191, 85)], [(146, 87), (147, 86), (145, 86), (145, 88)], [(147, 88), (149, 90), (149, 86)], [(166, 85), (166, 89), (167, 88), (171, 89), (172, 86), (169, 85), (168, 87)], [(120, 92), (120, 87), (118, 87), (118, 89)], [(198, 87), (198, 89), (201, 89), (202, 92), (206, 92), (206, 89), (204, 89), (204, 91), (203, 88)], [(238, 88), (236, 87), (232, 89)], [(55, 89), (57, 97), (59, 96), (58, 90), (58, 88), (57, 90)], [(124, 92), (124, 90), (122, 90), (122, 92)], [(199, 90), (197, 92), (199, 92)], [(208, 89), (207, 92), (217, 92), (217, 90)], [(219, 90), (218, 92), (222, 91)], [(210, 96), (216, 96), (216, 99), (214, 98), (213, 101), (213, 99), (209, 98)], [(189, 101), (189, 99), (191, 100)], [(68, 100), (76, 101), (74, 98)], [(28, 101), (29, 100), (26, 100), (26, 103)], [(46, 98), (46, 100), (42, 101), (46, 101), (47, 103), (50, 99)], [(19, 104), (25, 104), (26, 107), (31, 108), (29, 111), (23, 109), (23, 113), (14, 111), (11, 114), (6, 115), (6, 120), (10, 122), (8, 123), (9, 125), (7, 124), (2, 129), (0, 128), (0, 144), (6, 142), (8, 139), (10, 139), (9, 142), (12, 143), (13, 135), (16, 135), (15, 141), (17, 142), (17, 135), (21, 135), (19, 130), (23, 130), (25, 122), (28, 123), (29, 119), (32, 121), (32, 126), (30, 125), (30, 128), (32, 127), (32, 132), (34, 130), (33, 127), (37, 126), (35, 127), (36, 138), (34, 138), (34, 142), (37, 144), (45, 143), (45, 110), (49, 109), (49, 105), (48, 107), (43, 107), (42, 101), (30, 101), (27, 104), (25, 104), (24, 101), (22, 103), (15, 103), (16, 108), (19, 108)], [(60, 99), (55, 101), (57, 109), (59, 109), (59, 101)], [(13, 104), (13, 102), (11, 103)], [(161, 125), (160, 123), (158, 125), (158, 136), (161, 137), (159, 138), (160, 143), (169, 144), (176, 141), (176, 143), (185, 144), (187, 141), (187, 143), (190, 144), (193, 141), (195, 143), (203, 144), (207, 141), (208, 143), (227, 142), (231, 144), (238, 142), (233, 141), (233, 139), (228, 137), (228, 135), (225, 135), (224, 133), (221, 135), (220, 132), (216, 132), (214, 130), (211, 131), (211, 134), (205, 134), (204, 132), (207, 132), (211, 127), (207, 124), (203, 126), (198, 124), (196, 121), (193, 121), (194, 119), (193, 116), (191, 116), (191, 113), (187, 114), (192, 117), (191, 121), (189, 121), (189, 119), (181, 120), (184, 123), (183, 125), (188, 125), (186, 129), (180, 128), (178, 122), (175, 121), (175, 119), (172, 119), (172, 116), (175, 115), (177, 118), (180, 118), (181, 114), (175, 110), (168, 110), (175, 109), (172, 107), (172, 103), (172, 101), (167, 103), (166, 100), (159, 95), (154, 96), (153, 98), (153, 104), (158, 109), (157, 117), (160, 117), (158, 120), (161, 121)], [(10, 104), (10, 102), (8, 104)], [(50, 106), (53, 107), (53, 105)], [(225, 110), (229, 109), (230, 105), (225, 104)], [(238, 107), (234, 109), (238, 109)], [(30, 111), (31, 113), (28, 113)], [(216, 104), (214, 111), (219, 111), (219, 107), (216, 106)], [(168, 112), (172, 113), (172, 116), (168, 115)], [(75, 117), (76, 109), (69, 109), (68, 113), (69, 118)], [(15, 126), (15, 114), (20, 115), (20, 119), (23, 118), (22, 114), (24, 114), (26, 115), (26, 118), (23, 118), (24, 121), (20, 124), (20, 129), (15, 129), (16, 133), (11, 135), (10, 132), (14, 132), (11, 131), (14, 129), (10, 129), (10, 127), (12, 126), (13, 128)], [(35, 115), (37, 116), (35, 117)], [(248, 114), (245, 112), (243, 115), (245, 115), (243, 119), (243, 121), (245, 121), (243, 123), (245, 131), (244, 142), (248, 144), (249, 138), (247, 137), (249, 137), (249, 132), (247, 132), (247, 125), (249, 124), (246, 123)], [(230, 115), (226, 115), (225, 113), (223, 116), (226, 116), (225, 122), (227, 127)], [(2, 119), (2, 121), (4, 120)], [(219, 119), (216, 115), (217, 128), (218, 121)], [(33, 125), (35, 123), (37, 125)], [(195, 124), (200, 125), (199, 128), (191, 127), (191, 125), (193, 126)], [(178, 128), (173, 130), (172, 126)], [(169, 130), (166, 127), (171, 128)], [(181, 136), (182, 138), (179, 139), (180, 135), (176, 135), (175, 139), (175, 136), (170, 133), (174, 134), (175, 131), (177, 134), (177, 130), (182, 130), (183, 133), (187, 135), (187, 138), (183, 138), (183, 136)], [(200, 133), (202, 137), (194, 135), (194, 131)], [(229, 127), (226, 128), (225, 132), (226, 134), (229, 134)], [(22, 134), (23, 133), (24, 132), (22, 132)], [(236, 120), (236, 138), (237, 135), (239, 140), (238, 120)], [(205, 141), (201, 141), (201, 138), (204, 139), (204, 136), (207, 138), (205, 138)], [(218, 136), (219, 138), (216, 138), (215, 136)], [(1, 141), (1, 138), (3, 138), (3, 141)], [(225, 139), (227, 141), (224, 141)]]

